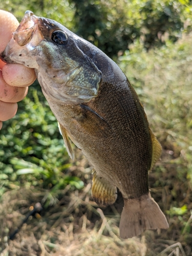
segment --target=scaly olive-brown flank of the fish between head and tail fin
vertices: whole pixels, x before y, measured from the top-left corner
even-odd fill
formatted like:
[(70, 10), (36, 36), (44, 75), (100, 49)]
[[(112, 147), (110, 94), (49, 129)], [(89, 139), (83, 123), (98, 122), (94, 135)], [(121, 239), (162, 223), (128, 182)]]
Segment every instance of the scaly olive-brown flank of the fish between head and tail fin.
[[(143, 108), (133, 88), (128, 81), (123, 83), (124, 86), (121, 83), (118, 88), (118, 83), (101, 82), (98, 97), (84, 104), (88, 109), (79, 105), (49, 103), (59, 123), (81, 148), (98, 176), (117, 186), (123, 197), (128, 199), (148, 193), (152, 140)], [(86, 113), (91, 112), (89, 109), (102, 118), (103, 130), (94, 127), (94, 123), (84, 129)]]

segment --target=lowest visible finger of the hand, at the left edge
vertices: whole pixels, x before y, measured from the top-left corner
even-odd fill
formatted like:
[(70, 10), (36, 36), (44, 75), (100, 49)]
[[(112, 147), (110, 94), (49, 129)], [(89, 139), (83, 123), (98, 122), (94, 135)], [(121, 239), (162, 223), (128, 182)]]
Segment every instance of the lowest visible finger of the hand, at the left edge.
[(0, 100), (0, 120), (6, 121), (12, 117), (17, 112), (17, 103), (8, 103)]

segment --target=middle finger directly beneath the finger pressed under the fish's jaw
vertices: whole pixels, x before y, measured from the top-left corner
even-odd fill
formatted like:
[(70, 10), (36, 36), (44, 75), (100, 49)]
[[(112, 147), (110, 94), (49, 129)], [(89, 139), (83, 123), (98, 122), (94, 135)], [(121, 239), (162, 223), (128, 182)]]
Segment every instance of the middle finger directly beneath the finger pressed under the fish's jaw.
[(18, 102), (27, 95), (28, 87), (12, 87), (5, 82), (0, 71), (0, 100), (4, 102)]

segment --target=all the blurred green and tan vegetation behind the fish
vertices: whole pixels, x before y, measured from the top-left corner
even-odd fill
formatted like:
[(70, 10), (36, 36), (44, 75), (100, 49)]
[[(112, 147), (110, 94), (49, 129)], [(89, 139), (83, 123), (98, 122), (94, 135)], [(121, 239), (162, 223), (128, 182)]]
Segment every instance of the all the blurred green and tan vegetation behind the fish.
[[(0, 255), (192, 255), (190, 1), (6, 0), (0, 9), (55, 19), (118, 63), (163, 148), (149, 181), (170, 225), (119, 239), (121, 195), (97, 210), (91, 167), (78, 150), (69, 159), (36, 81), (0, 131)], [(36, 202), (43, 210), (9, 240)]]

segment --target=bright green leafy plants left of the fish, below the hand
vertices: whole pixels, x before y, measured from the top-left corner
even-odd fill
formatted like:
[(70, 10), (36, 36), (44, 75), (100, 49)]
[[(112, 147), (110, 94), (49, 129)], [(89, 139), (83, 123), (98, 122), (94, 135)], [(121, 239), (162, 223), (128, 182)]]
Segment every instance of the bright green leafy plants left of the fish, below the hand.
[(16, 117), (4, 122), (0, 156), (0, 195), (15, 186), (83, 187), (77, 177), (67, 175), (69, 157), (57, 121), (36, 87), (19, 102)]

